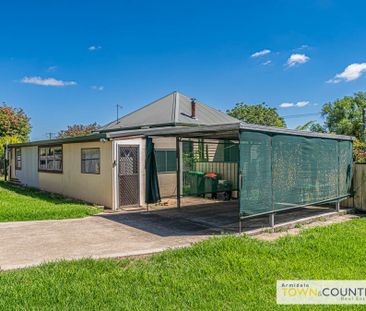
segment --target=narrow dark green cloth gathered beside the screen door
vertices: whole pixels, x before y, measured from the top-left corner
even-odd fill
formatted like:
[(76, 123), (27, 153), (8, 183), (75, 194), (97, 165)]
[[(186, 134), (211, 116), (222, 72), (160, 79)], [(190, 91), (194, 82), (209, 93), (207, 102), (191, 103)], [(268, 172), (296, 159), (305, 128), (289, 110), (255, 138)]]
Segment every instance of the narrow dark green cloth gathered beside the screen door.
[(151, 137), (146, 138), (146, 198), (147, 204), (160, 201), (158, 170), (154, 152), (154, 143)]

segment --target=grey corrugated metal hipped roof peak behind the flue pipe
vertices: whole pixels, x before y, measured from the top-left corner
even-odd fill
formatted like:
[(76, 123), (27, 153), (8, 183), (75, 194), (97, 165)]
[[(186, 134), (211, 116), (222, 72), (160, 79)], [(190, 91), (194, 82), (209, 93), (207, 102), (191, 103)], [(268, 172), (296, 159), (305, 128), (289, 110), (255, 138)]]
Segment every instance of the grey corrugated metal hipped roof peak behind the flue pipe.
[(109, 132), (168, 125), (219, 125), (239, 122), (239, 120), (211, 108), (198, 100), (196, 100), (196, 118), (192, 118), (191, 97), (179, 92), (173, 92), (121, 117), (118, 121), (113, 121), (103, 126), (99, 131)]

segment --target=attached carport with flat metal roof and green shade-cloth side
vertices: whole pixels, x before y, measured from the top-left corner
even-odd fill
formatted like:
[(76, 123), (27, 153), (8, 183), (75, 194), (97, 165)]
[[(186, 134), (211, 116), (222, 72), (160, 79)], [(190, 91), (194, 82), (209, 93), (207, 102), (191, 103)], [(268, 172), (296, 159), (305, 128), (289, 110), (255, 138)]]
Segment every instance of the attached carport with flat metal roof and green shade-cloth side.
[[(291, 215), (306, 217), (309, 213), (329, 212), (330, 204), (335, 204), (339, 211), (341, 200), (351, 195), (353, 137), (245, 123), (149, 128), (111, 133), (110, 137), (113, 135), (175, 137), (177, 208), (154, 212), (166, 217), (188, 217), (204, 224), (205, 213), (208, 219), (224, 220), (227, 216), (229, 222), (235, 220), (241, 231), (243, 224), (266, 223), (264, 218), (274, 226), (275, 220), (290, 220)], [(206, 163), (195, 157), (190, 159), (194, 164), (192, 168), (197, 172), (206, 167), (205, 173), (220, 170), (218, 175), (226, 174), (223, 179), (231, 179), (230, 191), (237, 192), (237, 200), (209, 201), (200, 206), (196, 204), (198, 207), (195, 204), (182, 205), (187, 198), (203, 200), (207, 194), (214, 193), (207, 183), (201, 188), (197, 186), (195, 191), (191, 191), (194, 182), (190, 188), (186, 187), (187, 180), (192, 178), (187, 175), (187, 171), (191, 171), (186, 169), (186, 142), (197, 146), (197, 150), (193, 149), (196, 153), (203, 153), (203, 158), (206, 156)], [(200, 144), (209, 143), (238, 147), (237, 159), (231, 162), (236, 165), (214, 164), (215, 161), (209, 159), (209, 152), (202, 151), (202, 147), (199, 150)], [(231, 154), (230, 157), (236, 156)], [(234, 173), (228, 173), (233, 170)], [(319, 208), (316, 210), (314, 206)], [(225, 225), (225, 221), (222, 224)]]

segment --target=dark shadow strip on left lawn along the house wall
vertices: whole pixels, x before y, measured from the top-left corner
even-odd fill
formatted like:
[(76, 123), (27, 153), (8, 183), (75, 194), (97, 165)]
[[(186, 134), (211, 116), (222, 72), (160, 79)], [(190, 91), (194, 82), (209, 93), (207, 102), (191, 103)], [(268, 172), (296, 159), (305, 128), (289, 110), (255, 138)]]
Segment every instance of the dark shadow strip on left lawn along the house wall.
[(0, 189), (5, 189), (19, 195), (28, 196), (52, 204), (78, 204), (93, 207), (92, 204), (87, 202), (78, 201), (75, 199), (64, 197), (60, 194), (41, 191), (31, 187), (14, 185), (3, 180), (0, 180)]

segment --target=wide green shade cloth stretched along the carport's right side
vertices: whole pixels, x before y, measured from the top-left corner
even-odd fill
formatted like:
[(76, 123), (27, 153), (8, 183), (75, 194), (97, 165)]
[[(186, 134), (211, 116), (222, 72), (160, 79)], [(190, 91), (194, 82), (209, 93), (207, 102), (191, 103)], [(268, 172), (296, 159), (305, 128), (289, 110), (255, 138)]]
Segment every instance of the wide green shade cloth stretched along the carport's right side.
[(240, 133), (240, 216), (349, 196), (352, 142), (254, 131)]

